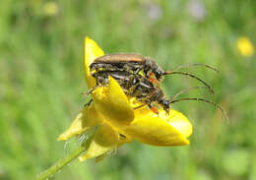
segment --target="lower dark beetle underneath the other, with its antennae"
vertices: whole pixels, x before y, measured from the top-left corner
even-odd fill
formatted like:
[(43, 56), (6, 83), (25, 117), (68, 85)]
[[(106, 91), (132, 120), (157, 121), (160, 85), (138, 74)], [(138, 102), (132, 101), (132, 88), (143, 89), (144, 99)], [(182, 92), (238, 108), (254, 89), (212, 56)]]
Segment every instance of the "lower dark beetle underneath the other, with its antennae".
[(108, 76), (111, 76), (117, 81), (117, 83), (120, 85), (120, 87), (122, 88), (122, 90), (125, 92), (126, 95), (134, 96), (138, 101), (143, 103), (142, 105), (136, 107), (135, 109), (148, 105), (153, 112), (158, 114), (159, 112), (156, 106), (160, 104), (163, 110), (165, 110), (166, 113), (168, 113), (169, 106), (172, 103), (184, 101), (184, 100), (199, 100), (199, 101), (211, 103), (212, 105), (219, 108), (223, 112), (225, 119), (228, 120), (224, 109), (219, 104), (211, 100), (208, 100), (205, 98), (195, 98), (195, 97), (176, 99), (178, 95), (188, 90), (202, 89), (202, 88), (207, 89), (207, 87), (192, 87), (185, 90), (181, 90), (178, 93), (176, 93), (172, 98), (167, 99), (159, 86), (155, 86), (151, 81), (149, 81), (148, 79), (146, 79), (144, 76), (140, 74), (133, 74), (127, 71), (99, 71), (97, 74), (95, 74), (97, 86), (89, 90), (87, 94), (92, 93), (98, 87), (106, 86), (108, 84)]

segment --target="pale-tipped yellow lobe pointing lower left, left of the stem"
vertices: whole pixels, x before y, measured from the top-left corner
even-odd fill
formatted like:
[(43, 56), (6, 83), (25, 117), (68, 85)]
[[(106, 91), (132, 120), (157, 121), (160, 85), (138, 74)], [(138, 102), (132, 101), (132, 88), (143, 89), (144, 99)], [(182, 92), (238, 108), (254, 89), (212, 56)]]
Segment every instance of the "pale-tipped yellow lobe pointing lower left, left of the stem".
[(58, 141), (65, 141), (75, 135), (79, 135), (91, 127), (103, 121), (103, 117), (96, 111), (94, 105), (82, 109), (78, 116), (72, 121), (71, 126), (59, 136)]

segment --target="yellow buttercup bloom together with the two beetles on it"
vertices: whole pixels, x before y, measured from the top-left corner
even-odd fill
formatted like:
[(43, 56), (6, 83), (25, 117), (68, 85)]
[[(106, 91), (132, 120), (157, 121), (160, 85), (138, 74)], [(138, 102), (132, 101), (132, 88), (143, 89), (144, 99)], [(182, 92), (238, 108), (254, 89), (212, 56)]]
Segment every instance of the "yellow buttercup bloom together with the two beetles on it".
[[(203, 98), (176, 99), (181, 93), (199, 88), (213, 93), (211, 87), (198, 77), (177, 71), (190, 66), (205, 66), (217, 71), (208, 65), (189, 64), (165, 72), (155, 61), (142, 55), (104, 55), (96, 41), (86, 37), (85, 79), (90, 89), (87, 94), (92, 95), (91, 102), (94, 103), (83, 107), (58, 140), (67, 141), (98, 127), (89, 149), (79, 157), (80, 160), (100, 157), (132, 141), (158, 147), (189, 145), (193, 126), (185, 115), (169, 108), (169, 104), (181, 100), (215, 104)], [(181, 90), (168, 99), (160, 89), (160, 83), (165, 75), (175, 74), (197, 79), (205, 86)]]

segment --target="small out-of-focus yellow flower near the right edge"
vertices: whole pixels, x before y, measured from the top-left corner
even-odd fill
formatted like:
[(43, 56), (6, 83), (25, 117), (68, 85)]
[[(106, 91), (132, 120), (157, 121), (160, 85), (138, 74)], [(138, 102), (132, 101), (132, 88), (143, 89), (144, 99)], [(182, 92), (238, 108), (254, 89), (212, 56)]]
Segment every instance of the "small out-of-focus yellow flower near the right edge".
[(247, 38), (245, 36), (239, 37), (236, 42), (236, 45), (237, 45), (239, 52), (243, 56), (250, 57), (253, 55), (254, 47), (249, 38)]

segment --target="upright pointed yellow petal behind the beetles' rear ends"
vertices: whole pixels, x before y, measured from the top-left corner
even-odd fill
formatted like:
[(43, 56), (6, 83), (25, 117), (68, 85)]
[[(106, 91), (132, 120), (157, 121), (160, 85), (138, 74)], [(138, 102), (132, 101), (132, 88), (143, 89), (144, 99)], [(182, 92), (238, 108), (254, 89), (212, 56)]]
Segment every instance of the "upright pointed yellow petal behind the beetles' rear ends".
[(85, 78), (89, 89), (96, 86), (96, 81), (90, 73), (90, 65), (95, 61), (97, 57), (102, 55), (104, 55), (104, 52), (96, 44), (96, 41), (86, 36), (84, 43), (84, 67)]

